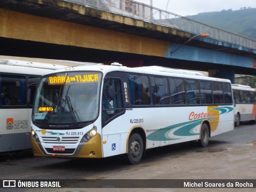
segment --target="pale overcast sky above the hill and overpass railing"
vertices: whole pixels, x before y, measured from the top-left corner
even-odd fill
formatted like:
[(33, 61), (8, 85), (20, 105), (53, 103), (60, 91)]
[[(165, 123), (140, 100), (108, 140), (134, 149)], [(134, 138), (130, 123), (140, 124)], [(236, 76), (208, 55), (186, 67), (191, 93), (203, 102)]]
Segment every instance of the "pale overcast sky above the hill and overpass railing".
[[(151, 0), (134, 0), (150, 5)], [(196, 15), (203, 12), (222, 10), (240, 10), (256, 8), (256, 0), (152, 0), (153, 7), (178, 14), (180, 16)]]

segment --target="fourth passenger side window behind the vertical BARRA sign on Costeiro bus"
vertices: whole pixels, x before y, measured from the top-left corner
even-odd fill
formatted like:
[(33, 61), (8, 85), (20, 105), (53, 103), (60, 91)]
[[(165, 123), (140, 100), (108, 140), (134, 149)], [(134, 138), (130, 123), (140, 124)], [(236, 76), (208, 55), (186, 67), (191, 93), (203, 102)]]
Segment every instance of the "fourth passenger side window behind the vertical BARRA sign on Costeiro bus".
[(186, 80), (186, 94), (188, 105), (200, 104), (200, 92), (198, 81)]

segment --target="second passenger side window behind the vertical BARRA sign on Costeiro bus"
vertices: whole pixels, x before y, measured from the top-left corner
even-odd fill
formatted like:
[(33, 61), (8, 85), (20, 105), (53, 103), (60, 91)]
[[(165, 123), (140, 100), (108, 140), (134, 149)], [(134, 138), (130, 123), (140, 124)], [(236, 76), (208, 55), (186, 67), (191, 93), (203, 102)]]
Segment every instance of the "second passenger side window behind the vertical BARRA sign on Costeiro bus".
[(154, 105), (170, 105), (167, 78), (151, 77), (151, 93)]

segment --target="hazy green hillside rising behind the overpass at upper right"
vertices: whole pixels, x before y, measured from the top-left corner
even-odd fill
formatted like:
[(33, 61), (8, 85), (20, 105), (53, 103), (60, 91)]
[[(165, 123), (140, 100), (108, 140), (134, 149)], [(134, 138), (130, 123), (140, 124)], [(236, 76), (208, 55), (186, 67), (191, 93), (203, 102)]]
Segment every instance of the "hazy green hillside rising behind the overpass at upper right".
[(256, 40), (256, 8), (205, 12), (186, 17)]

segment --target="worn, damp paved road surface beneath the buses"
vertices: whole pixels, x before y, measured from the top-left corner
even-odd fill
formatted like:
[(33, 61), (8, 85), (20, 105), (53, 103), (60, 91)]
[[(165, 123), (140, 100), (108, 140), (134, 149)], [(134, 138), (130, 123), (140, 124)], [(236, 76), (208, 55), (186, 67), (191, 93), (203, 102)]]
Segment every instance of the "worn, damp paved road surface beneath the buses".
[[(0, 179), (256, 179), (256, 125), (244, 124), (234, 131), (212, 137), (206, 148), (190, 143), (155, 148), (146, 152), (140, 164), (127, 165), (122, 157), (104, 159), (36, 158), (2, 156)], [(1, 189), (0, 189), (1, 191)], [(8, 189), (5, 192), (32, 192), (35, 189)], [(183, 192), (209, 191), (206, 188), (36, 189), (37, 192)], [(220, 189), (210, 191), (255, 191)]]

